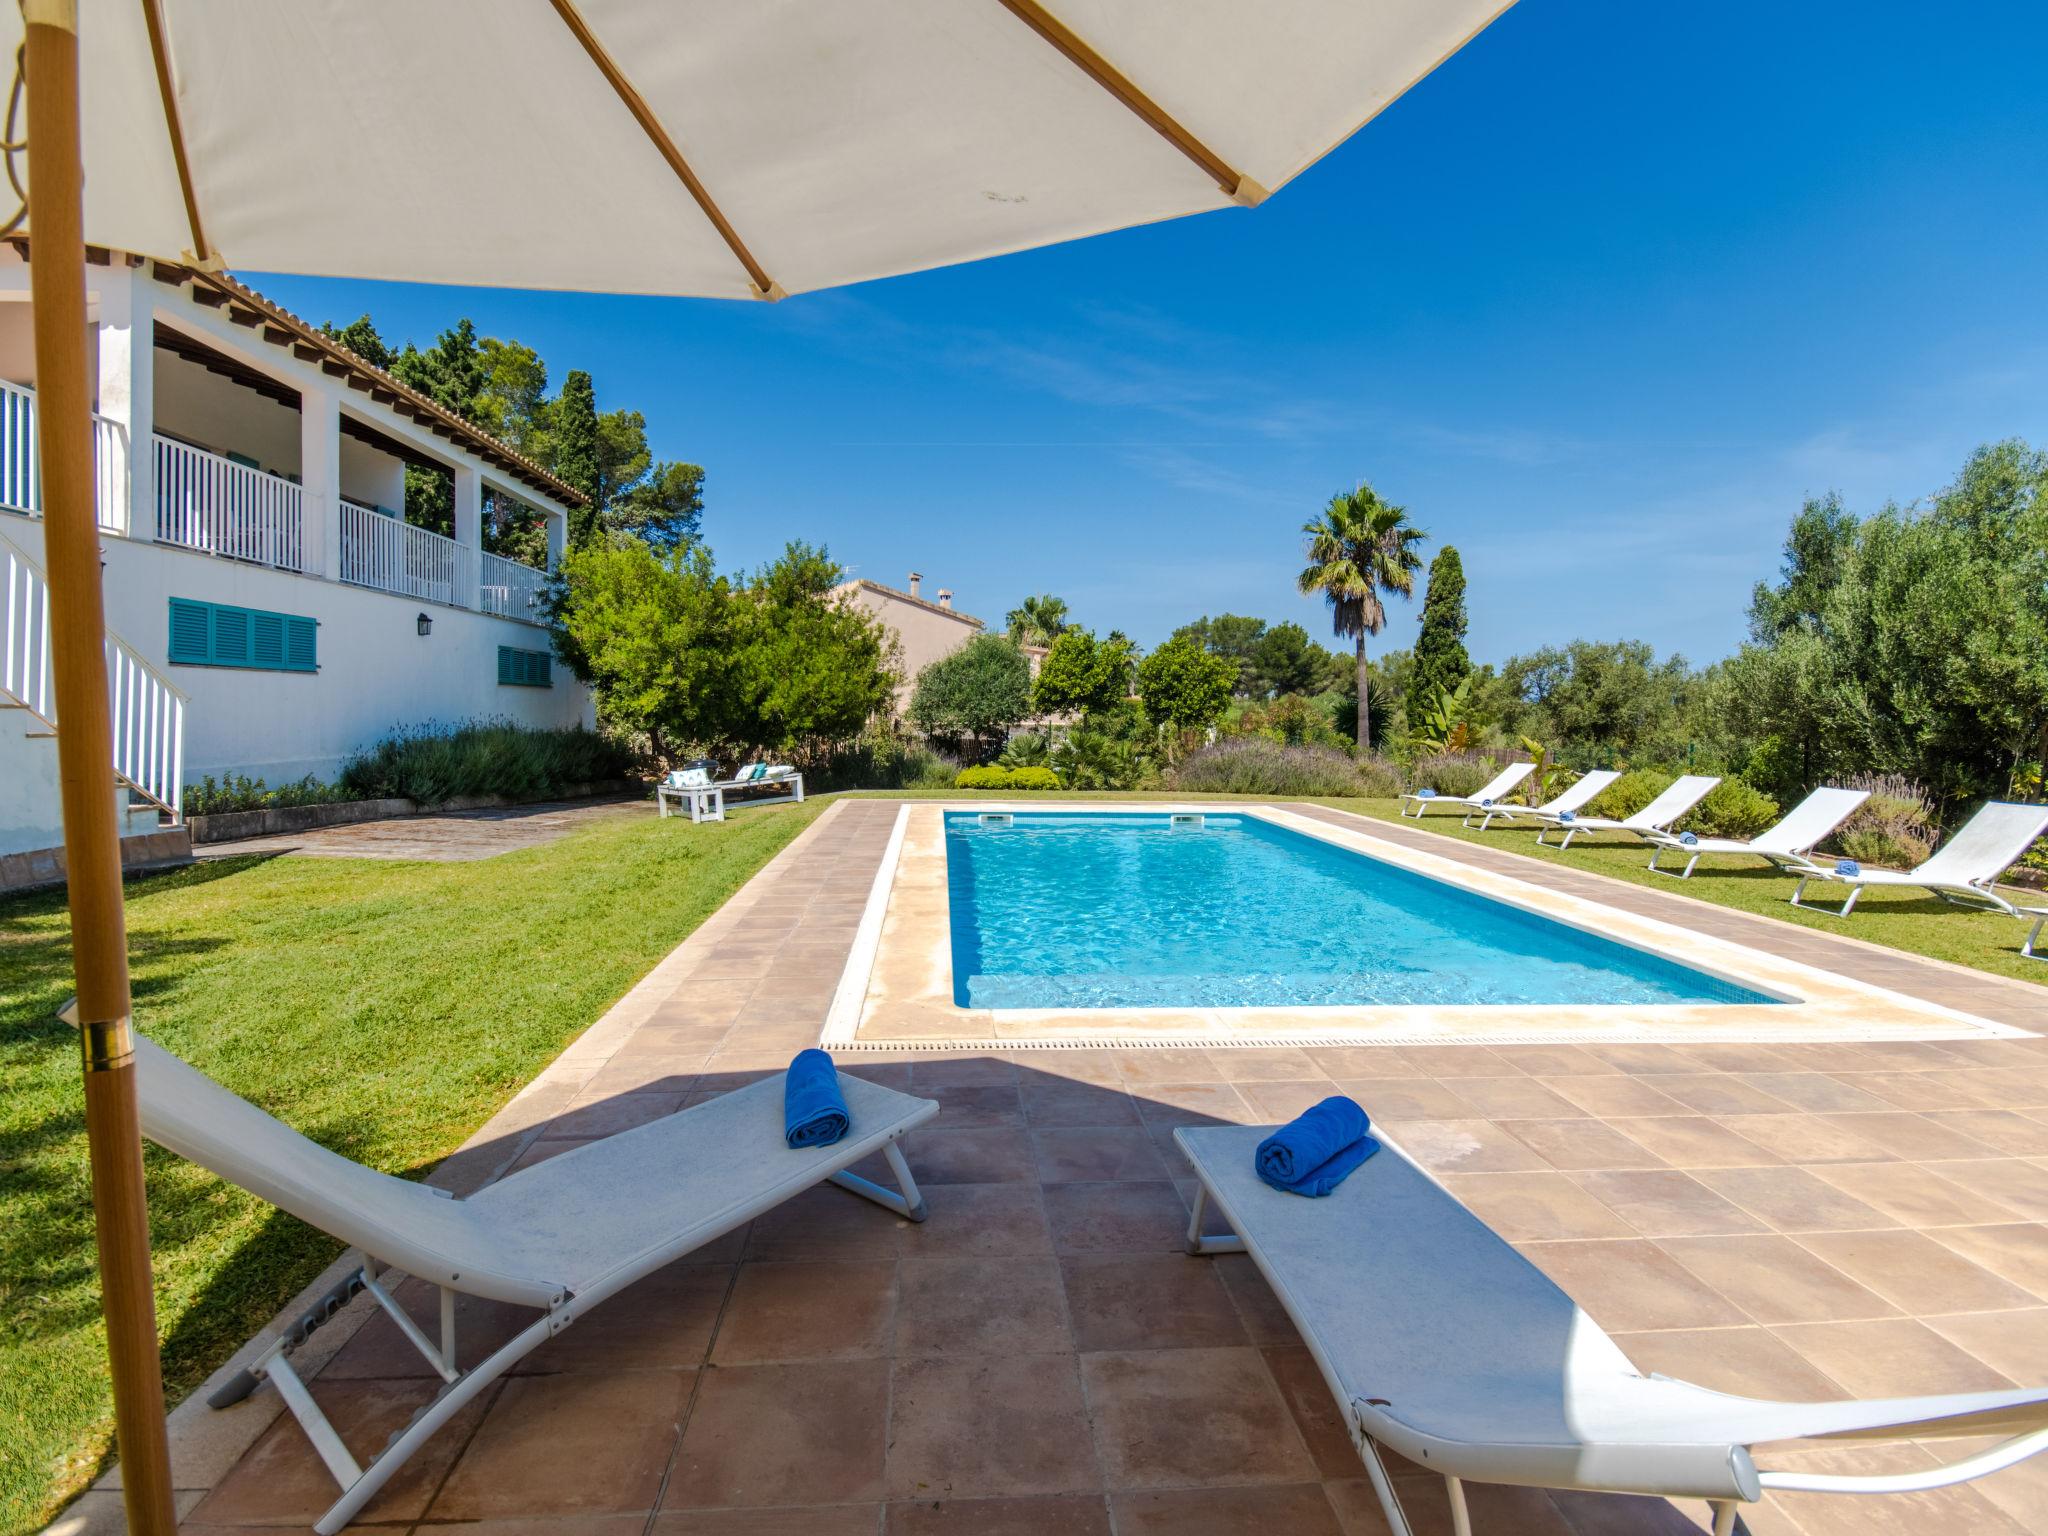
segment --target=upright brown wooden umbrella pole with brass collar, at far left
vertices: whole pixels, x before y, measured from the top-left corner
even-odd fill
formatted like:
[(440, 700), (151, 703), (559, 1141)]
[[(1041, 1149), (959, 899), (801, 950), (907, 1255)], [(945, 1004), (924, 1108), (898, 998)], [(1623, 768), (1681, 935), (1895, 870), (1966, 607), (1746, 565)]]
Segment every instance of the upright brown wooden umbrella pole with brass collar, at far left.
[(63, 858), (72, 899), (72, 967), (78, 973), (92, 1214), (129, 1530), (172, 1536), (176, 1516), (150, 1282), (141, 1120), (135, 1110), (115, 743), (106, 709), (106, 614), (94, 516), (78, 0), (25, 0), (23, 18), (29, 43), (29, 276), (43, 457), (43, 557), (49, 565)]

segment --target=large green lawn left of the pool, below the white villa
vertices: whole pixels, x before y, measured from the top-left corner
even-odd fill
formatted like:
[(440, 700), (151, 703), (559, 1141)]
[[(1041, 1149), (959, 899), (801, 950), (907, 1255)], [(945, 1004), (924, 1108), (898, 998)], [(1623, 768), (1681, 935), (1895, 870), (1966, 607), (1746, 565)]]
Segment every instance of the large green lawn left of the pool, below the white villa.
[[(422, 1174), (711, 915), (825, 801), (592, 825), (463, 864), (236, 858), (129, 885), (137, 1026), (301, 1130)], [(0, 899), (0, 1532), (104, 1464), (113, 1409), (57, 895)], [(172, 1401), (338, 1247), (147, 1153)]]

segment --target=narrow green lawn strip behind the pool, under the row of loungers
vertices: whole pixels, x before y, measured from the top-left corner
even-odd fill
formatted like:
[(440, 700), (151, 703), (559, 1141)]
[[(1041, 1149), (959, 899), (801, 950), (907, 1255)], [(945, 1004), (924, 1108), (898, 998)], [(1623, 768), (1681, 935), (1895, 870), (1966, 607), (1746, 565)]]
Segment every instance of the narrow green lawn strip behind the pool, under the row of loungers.
[[(893, 797), (903, 799), (903, 797)], [(991, 799), (991, 801), (1020, 801), (1020, 797), (1010, 791), (948, 791), (944, 795), (928, 795), (918, 799)], [(1049, 797), (1051, 799), (1051, 797)], [(1313, 805), (1335, 805), (1346, 811), (1358, 811), (1362, 815), (1378, 817), (1382, 821), (1395, 821), (1401, 813), (1399, 801), (1368, 801), (1368, 799), (1317, 799), (1317, 797), (1272, 797), (1272, 795), (1061, 795), (1061, 799), (1081, 799), (1081, 801), (1130, 801), (1130, 799), (1155, 799), (1155, 801), (1274, 801), (1274, 799), (1303, 799)], [(1815, 928), (1823, 934), (1843, 934), (1847, 938), (1862, 938), (1872, 944), (1888, 944), (1890, 948), (1909, 950), (1913, 954), (1927, 954), (1935, 961), (1950, 961), (1952, 965), (1966, 965), (1976, 971), (1989, 971), (1999, 977), (2015, 977), (2019, 981), (2034, 981), (2048, 987), (2048, 961), (2034, 961), (2019, 952), (2019, 942), (2028, 936), (2023, 924), (2013, 922), (1995, 911), (1968, 911), (1964, 907), (1950, 905), (1925, 891), (1866, 891), (1862, 901), (1855, 903), (1855, 911), (1843, 918), (1829, 918), (1821, 911), (1806, 911), (1794, 907), (1790, 901), (1794, 881), (1780, 874), (1769, 864), (1755, 858), (1702, 858), (1700, 868), (1694, 870), (1690, 881), (1675, 881), (1669, 874), (1651, 874), (1651, 850), (1638, 844), (1634, 838), (1610, 836), (1606, 842), (1587, 842), (1583, 836), (1573, 840), (1571, 848), (1559, 852), (1556, 848), (1536, 848), (1536, 831), (1532, 827), (1491, 827), (1487, 831), (1466, 829), (1458, 825), (1458, 817), (1448, 811), (1436, 811), (1421, 821), (1407, 819), (1405, 827), (1423, 827), (1427, 831), (1442, 834), (1446, 838), (1462, 838), (1464, 842), (1477, 842), (1487, 848), (1499, 848), (1509, 854), (1524, 854), (1526, 858), (1544, 862), (1563, 862), (1573, 868), (1591, 870), (1595, 874), (1612, 874), (1618, 881), (1630, 881), (1634, 885), (1649, 885), (1657, 891), (1669, 891), (1671, 895), (1694, 897), (1696, 901), (1714, 901), (1724, 907), (1739, 907), (1741, 911), (1755, 911), (1765, 918), (1776, 918), (1788, 924), (1800, 924), (1802, 928)], [(1665, 860), (1671, 864), (1673, 860)], [(1683, 862), (1677, 862), (1683, 868)], [(1839, 903), (1845, 895), (1845, 887), (1833, 889), (1808, 889), (1815, 899), (1827, 899), (1829, 903)], [(2048, 891), (2019, 891), (2007, 889), (2013, 901), (2025, 905), (2048, 905)], [(2048, 944), (2048, 940), (2044, 940)]]

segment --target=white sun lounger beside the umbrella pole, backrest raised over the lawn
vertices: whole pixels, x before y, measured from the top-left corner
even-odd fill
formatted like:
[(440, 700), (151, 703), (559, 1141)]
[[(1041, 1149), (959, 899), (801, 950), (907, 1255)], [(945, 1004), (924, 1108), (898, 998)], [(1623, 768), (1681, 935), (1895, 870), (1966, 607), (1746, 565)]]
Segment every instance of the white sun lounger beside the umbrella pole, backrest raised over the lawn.
[[(909, 1221), (926, 1217), (895, 1143), (938, 1114), (938, 1104), (860, 1077), (840, 1077), (852, 1130), (831, 1147), (793, 1151), (784, 1143), (782, 1073), (776, 1073), (457, 1200), (307, 1141), (150, 1040), (135, 1040), (135, 1065), (150, 1141), (340, 1237), (362, 1260), (356, 1274), (209, 1399), (227, 1407), (248, 1397), (258, 1378), (276, 1386), (342, 1485), (342, 1497), (313, 1526), (322, 1536), (342, 1530), (465, 1403), (586, 1311), (813, 1184), (840, 1184)], [(901, 1192), (846, 1171), (874, 1151), (889, 1159)], [(438, 1341), (393, 1298), (399, 1274), (440, 1286)], [(356, 1464), (289, 1360), (356, 1290), (371, 1292), (442, 1378), (440, 1393), (369, 1466)], [(535, 1307), (541, 1317), (461, 1370), (457, 1292)]]

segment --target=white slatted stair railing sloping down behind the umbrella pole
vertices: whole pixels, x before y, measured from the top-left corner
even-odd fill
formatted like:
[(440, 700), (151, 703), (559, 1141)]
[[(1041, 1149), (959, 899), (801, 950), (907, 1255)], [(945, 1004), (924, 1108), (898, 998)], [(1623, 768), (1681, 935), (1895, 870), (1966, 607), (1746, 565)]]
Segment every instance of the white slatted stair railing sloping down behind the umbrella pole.
[[(156, 807), (160, 825), (182, 825), (184, 692), (113, 631), (106, 631), (106, 692), (115, 782), (131, 805)], [(55, 750), (49, 578), (0, 535), (0, 721), (10, 715), (23, 721), (29, 739), (47, 739)]]

